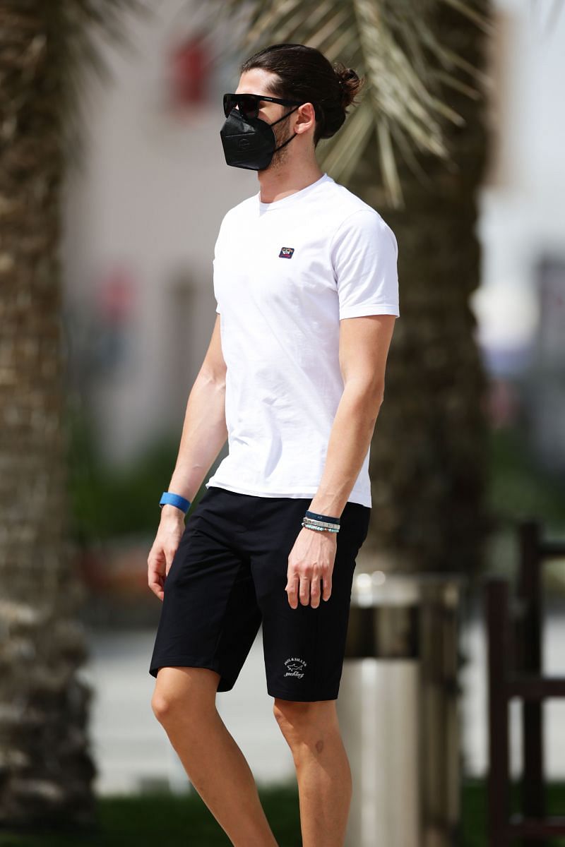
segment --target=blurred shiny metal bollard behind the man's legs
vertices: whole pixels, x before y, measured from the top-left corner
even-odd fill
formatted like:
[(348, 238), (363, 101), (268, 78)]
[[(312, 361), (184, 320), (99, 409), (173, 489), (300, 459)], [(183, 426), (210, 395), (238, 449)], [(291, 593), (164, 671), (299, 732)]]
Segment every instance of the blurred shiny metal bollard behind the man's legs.
[(346, 847), (451, 847), (460, 817), (458, 574), (358, 573), (337, 711)]

